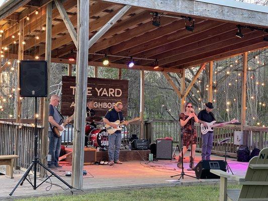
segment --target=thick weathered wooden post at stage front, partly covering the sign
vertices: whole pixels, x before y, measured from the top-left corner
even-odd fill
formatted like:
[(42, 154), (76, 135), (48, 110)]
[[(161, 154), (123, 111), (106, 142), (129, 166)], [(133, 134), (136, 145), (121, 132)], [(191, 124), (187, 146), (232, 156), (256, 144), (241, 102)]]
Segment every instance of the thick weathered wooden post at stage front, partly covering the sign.
[(86, 108), (87, 64), (88, 64), (88, 20), (89, 0), (77, 1), (77, 60), (76, 60), (76, 91), (74, 107), (74, 141), (72, 152), (71, 185), (82, 189), (84, 162), (84, 128)]

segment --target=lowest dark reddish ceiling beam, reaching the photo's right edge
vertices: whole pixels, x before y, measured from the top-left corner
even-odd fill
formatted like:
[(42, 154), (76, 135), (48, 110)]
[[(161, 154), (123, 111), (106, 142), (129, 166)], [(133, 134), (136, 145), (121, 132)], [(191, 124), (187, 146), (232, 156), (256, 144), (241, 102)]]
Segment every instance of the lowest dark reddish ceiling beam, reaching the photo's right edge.
[(202, 58), (199, 60), (195, 60), (193, 62), (189, 62), (186, 64), (182, 64), (182, 65), (178, 65), (176, 66), (176, 68), (189, 68), (192, 66), (197, 66), (200, 65), (203, 62), (209, 62), (209, 61), (217, 61), (217, 60), (221, 60), (224, 58), (228, 58), (228, 57), (234, 57), (237, 55), (242, 54), (243, 52), (247, 52), (247, 51), (255, 51), (258, 49), (263, 49), (263, 48), (268, 48), (267, 42), (266, 41), (261, 41), (259, 40), (258, 43), (247, 46), (247, 47), (242, 47), (242, 48), (238, 48), (236, 50), (233, 51), (229, 51), (229, 52), (224, 52), (224, 53), (217, 53), (217, 55), (213, 55), (210, 57), (206, 57), (206, 58)]

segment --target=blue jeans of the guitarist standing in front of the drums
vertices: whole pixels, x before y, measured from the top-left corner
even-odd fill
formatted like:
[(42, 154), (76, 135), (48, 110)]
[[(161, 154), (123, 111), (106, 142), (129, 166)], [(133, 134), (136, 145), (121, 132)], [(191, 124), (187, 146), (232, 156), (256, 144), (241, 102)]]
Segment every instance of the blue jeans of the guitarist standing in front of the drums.
[(119, 160), (119, 152), (121, 146), (121, 131), (120, 133), (114, 133), (109, 135), (109, 160), (110, 161), (118, 161)]

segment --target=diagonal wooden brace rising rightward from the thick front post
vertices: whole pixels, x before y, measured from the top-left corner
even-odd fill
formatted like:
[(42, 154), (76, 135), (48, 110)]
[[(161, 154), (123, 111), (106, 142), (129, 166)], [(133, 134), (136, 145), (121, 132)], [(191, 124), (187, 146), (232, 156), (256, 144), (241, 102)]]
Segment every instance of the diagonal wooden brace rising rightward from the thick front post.
[(88, 49), (90, 49), (129, 9), (131, 6), (124, 6), (114, 17), (111, 18), (89, 41)]

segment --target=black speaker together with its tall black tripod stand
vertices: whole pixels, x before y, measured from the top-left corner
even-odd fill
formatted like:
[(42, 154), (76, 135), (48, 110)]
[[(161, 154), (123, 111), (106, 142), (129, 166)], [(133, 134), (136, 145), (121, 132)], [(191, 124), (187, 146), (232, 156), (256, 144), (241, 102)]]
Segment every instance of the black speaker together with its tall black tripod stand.
[[(69, 188), (72, 188), (66, 181), (52, 172), (48, 167), (42, 164), (39, 160), (37, 153), (38, 146), (38, 133), (37, 133), (37, 97), (47, 97), (47, 62), (46, 61), (29, 61), (23, 60), (20, 62), (19, 66), (20, 73), (20, 95), (22, 97), (34, 97), (35, 98), (35, 128), (34, 128), (34, 158), (22, 178), (18, 181), (16, 186), (13, 188), (9, 195), (12, 195), (16, 188), (20, 185), (23, 185), (23, 182), (27, 180), (32, 186), (33, 189), (37, 189), (42, 183), (49, 179), (52, 175), (67, 185)], [(39, 185), (36, 184), (36, 171), (37, 164), (40, 165), (40, 168), (43, 167), (45, 170), (51, 173), (45, 180), (43, 180)], [(31, 179), (27, 179), (30, 171), (33, 168), (34, 180), (33, 183)]]

